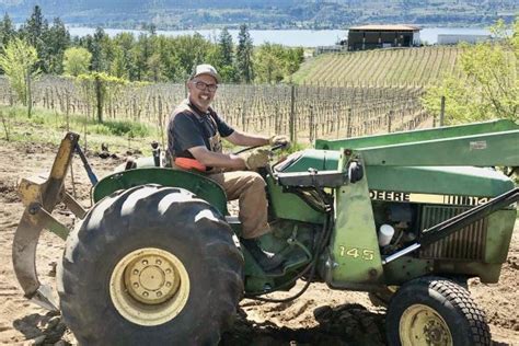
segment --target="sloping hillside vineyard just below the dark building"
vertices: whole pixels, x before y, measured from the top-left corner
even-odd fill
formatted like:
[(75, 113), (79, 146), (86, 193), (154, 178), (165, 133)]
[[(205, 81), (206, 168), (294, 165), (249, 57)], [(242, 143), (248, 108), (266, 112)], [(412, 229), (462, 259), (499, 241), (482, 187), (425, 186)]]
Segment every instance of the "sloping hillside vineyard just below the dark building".
[(463, 48), (435, 46), (324, 54), (293, 76), (300, 84), (430, 85), (453, 73)]

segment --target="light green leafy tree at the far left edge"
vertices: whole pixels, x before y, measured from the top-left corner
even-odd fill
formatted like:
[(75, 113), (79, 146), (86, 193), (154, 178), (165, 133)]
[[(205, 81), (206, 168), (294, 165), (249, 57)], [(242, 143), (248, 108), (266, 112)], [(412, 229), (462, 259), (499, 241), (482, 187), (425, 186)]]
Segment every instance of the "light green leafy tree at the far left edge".
[(23, 105), (27, 106), (27, 116), (32, 112), (31, 84), (38, 77), (36, 68), (38, 54), (36, 48), (21, 38), (11, 39), (0, 54), (0, 67), (8, 77), (9, 84)]

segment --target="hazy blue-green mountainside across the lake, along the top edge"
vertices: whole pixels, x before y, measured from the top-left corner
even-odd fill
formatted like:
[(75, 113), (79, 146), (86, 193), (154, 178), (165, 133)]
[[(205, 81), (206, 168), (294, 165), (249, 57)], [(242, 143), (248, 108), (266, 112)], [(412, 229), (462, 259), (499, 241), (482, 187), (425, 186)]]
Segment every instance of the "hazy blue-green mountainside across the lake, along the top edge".
[(24, 22), (36, 4), (68, 24), (125, 28), (484, 26), (499, 18), (511, 22), (519, 11), (517, 0), (0, 0), (0, 13)]

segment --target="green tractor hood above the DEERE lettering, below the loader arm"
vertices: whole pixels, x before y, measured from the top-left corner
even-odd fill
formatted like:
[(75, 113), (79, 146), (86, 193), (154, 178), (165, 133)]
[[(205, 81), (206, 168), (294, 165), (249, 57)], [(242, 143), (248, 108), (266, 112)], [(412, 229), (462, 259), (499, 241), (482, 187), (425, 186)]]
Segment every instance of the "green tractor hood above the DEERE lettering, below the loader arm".
[[(275, 169), (284, 173), (333, 171), (338, 169), (338, 160), (339, 151), (308, 149)], [(371, 192), (493, 197), (514, 188), (506, 175), (488, 168), (368, 165), (365, 170)]]

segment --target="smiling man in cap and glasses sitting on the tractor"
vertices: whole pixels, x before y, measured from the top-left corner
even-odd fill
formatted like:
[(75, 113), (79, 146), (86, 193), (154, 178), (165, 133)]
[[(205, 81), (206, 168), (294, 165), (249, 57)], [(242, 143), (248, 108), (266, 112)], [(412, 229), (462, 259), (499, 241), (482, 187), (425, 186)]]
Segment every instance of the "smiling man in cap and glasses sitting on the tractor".
[(268, 151), (258, 148), (246, 154), (221, 152), (224, 138), (235, 146), (288, 145), (286, 137), (244, 134), (227, 125), (210, 107), (218, 84), (217, 70), (198, 65), (187, 81), (188, 97), (173, 112), (168, 125), (168, 150), (172, 165), (204, 172), (219, 183), (229, 198), (239, 199), (242, 244), (265, 270), (276, 268), (281, 258), (265, 253), (258, 237), (270, 231), (267, 222), (265, 182), (254, 170), (268, 164)]

